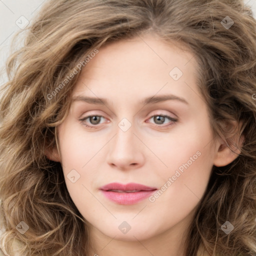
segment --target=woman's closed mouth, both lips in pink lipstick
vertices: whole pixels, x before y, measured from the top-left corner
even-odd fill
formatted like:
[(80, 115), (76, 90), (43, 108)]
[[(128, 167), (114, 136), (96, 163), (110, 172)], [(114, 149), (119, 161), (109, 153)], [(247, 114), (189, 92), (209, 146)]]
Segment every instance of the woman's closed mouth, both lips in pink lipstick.
[(111, 201), (118, 204), (134, 204), (152, 194), (157, 188), (145, 186), (138, 183), (109, 183), (102, 187), (100, 190)]

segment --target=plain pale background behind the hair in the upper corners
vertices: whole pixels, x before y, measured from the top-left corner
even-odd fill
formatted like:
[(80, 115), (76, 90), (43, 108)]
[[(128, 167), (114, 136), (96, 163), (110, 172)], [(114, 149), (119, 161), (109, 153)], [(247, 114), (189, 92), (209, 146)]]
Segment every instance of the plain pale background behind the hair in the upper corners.
[[(12, 36), (21, 28), (18, 27), (25, 24), (25, 19), (20, 18), (24, 16), (27, 20), (37, 14), (40, 10), (41, 4), (45, 0), (0, 0), (0, 68), (4, 70), (6, 57), (9, 53), (9, 44)], [(122, 1), (122, 0), (120, 0)], [(254, 16), (256, 17), (256, 0), (244, 0), (247, 5), (252, 6)], [(6, 80), (2, 75), (0, 77), (0, 84)]]

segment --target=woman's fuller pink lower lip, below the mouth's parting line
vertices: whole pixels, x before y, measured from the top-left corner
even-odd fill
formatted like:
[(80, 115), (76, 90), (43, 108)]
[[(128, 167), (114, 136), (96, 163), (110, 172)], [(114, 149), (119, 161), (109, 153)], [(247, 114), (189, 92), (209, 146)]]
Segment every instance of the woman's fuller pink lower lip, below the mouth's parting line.
[[(155, 189), (156, 190), (156, 189)], [(146, 197), (149, 197), (150, 194), (152, 194), (155, 190), (149, 190), (149, 191), (138, 191), (138, 192), (114, 192), (114, 191), (104, 191), (103, 194), (105, 197), (107, 197), (109, 200), (114, 201), (119, 204), (134, 204), (136, 202), (139, 202)]]

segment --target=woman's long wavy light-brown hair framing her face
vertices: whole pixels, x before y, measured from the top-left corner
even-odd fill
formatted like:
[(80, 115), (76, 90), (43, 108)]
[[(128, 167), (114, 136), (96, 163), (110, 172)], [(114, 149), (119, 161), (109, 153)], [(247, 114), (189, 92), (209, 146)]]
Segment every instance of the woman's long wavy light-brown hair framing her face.
[[(195, 256), (203, 246), (210, 255), (255, 256), (256, 21), (242, 0), (42, 5), (22, 32), (24, 44), (9, 56), (8, 81), (0, 87), (0, 241), (7, 253), (17, 239), (24, 255), (85, 255), (86, 220), (68, 194), (61, 164), (44, 151), (58, 146), (56, 127), (70, 107), (77, 64), (101, 45), (143, 33), (189, 48), (199, 64), (198, 87), (214, 134), (231, 148), (236, 131), (230, 124), (239, 121), (238, 135), (244, 137), (235, 160), (213, 166), (189, 226), (185, 255)], [(20, 42), (18, 35), (13, 40)], [(74, 68), (77, 74), (65, 81)], [(234, 226), (229, 234), (220, 228), (226, 220)], [(29, 226), (24, 234), (15, 228), (20, 221)]]

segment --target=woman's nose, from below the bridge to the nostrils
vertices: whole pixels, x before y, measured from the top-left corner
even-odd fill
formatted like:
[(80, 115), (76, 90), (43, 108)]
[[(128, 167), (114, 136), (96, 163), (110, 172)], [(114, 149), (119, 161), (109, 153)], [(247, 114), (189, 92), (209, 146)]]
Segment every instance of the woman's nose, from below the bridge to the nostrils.
[(107, 163), (121, 170), (139, 168), (144, 162), (143, 147), (132, 125), (126, 131), (117, 126), (108, 143)]

